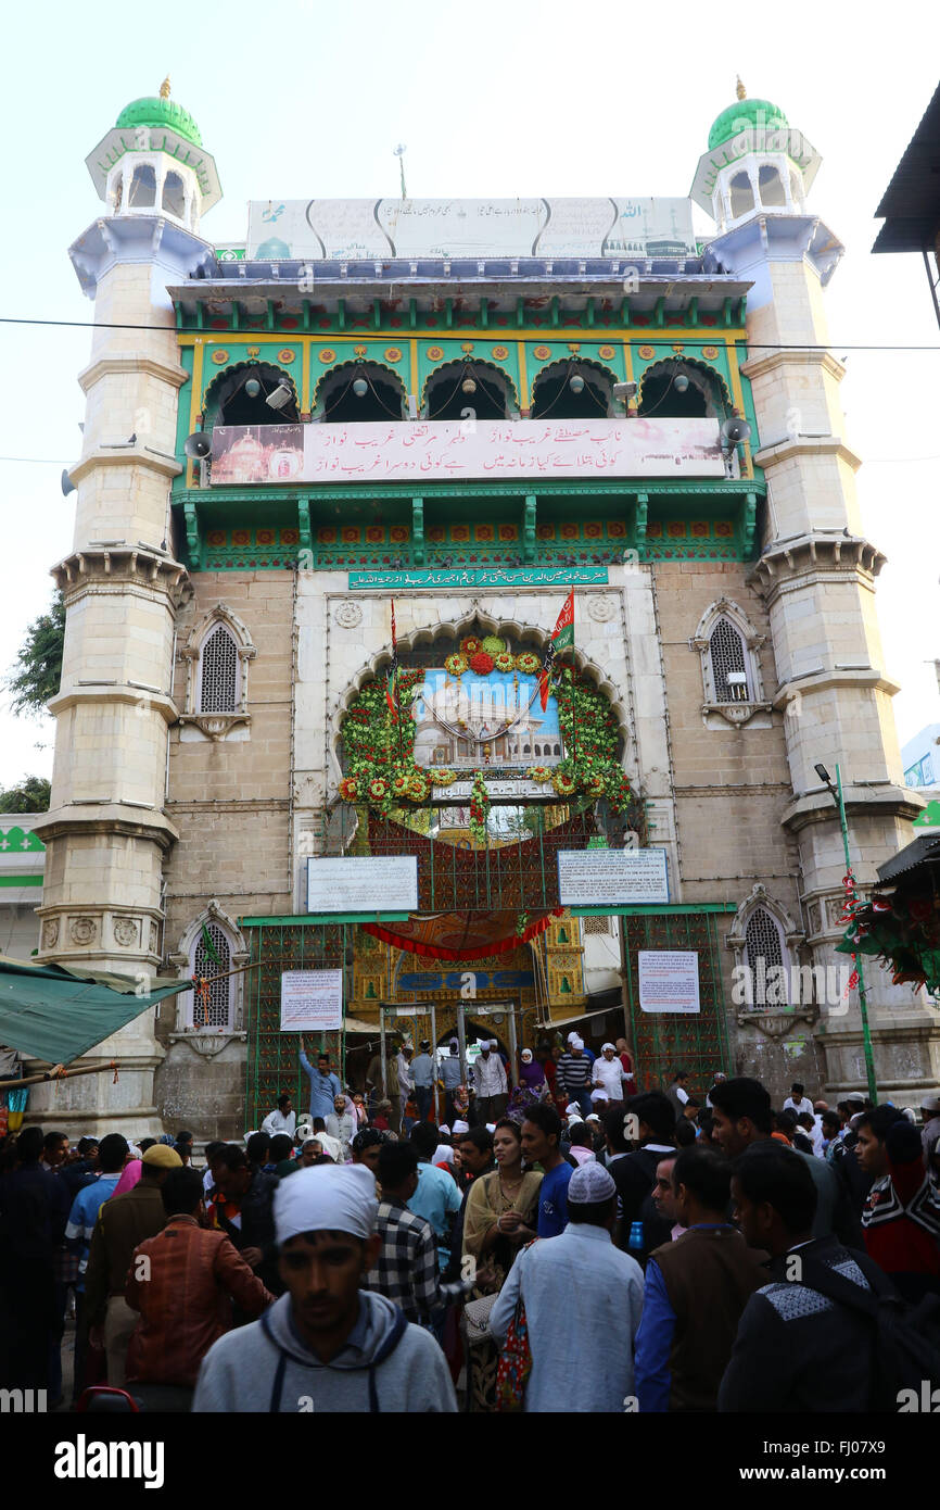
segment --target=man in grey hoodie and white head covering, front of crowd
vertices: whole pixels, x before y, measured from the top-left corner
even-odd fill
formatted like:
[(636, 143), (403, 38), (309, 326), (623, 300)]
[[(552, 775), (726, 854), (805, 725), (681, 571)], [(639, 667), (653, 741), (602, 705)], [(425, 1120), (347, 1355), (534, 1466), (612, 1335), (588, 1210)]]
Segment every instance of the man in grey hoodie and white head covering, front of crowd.
[(193, 1412), (456, 1412), (444, 1353), (385, 1296), (361, 1290), (379, 1256), (376, 1181), (364, 1164), (279, 1184), (287, 1294), (202, 1361)]

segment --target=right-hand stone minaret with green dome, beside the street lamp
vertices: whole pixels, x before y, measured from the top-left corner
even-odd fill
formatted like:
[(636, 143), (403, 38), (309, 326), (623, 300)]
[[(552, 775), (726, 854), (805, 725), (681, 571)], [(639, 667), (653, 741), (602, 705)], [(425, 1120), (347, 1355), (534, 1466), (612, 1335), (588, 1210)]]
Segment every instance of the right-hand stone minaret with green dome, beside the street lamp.
[[(815, 965), (834, 954), (842, 921), (845, 859), (837, 812), (816, 775), (842, 769), (851, 856), (862, 888), (910, 838), (919, 802), (902, 785), (875, 616), (884, 557), (863, 533), (856, 497), (859, 458), (845, 439), (839, 384), (845, 368), (828, 350), (822, 290), (843, 248), (806, 210), (819, 154), (766, 100), (738, 100), (709, 134), (693, 198), (720, 234), (705, 270), (753, 281), (747, 296), (750, 378), (759, 438), (753, 459), (768, 491), (762, 551), (751, 583), (768, 606), (792, 800), (783, 824), (795, 835), (807, 944)], [(910, 986), (865, 962), (875, 1068), (883, 1095), (911, 1099), (934, 1086), (940, 1042)], [(816, 1040), (830, 1090), (865, 1084), (859, 995), (821, 1007)], [(934, 1060), (938, 1060), (934, 1063)], [(893, 1099), (898, 1099), (898, 1095)]]

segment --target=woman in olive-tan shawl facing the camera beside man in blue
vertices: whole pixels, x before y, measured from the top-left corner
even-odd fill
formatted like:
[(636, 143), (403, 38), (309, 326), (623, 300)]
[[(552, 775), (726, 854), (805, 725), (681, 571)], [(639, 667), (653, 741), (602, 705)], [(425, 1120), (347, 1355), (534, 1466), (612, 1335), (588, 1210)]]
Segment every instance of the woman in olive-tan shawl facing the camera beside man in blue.
[[(524, 1172), (522, 1129), (510, 1117), (496, 1122), (493, 1158), (495, 1170), (469, 1187), (463, 1216), (463, 1259), (471, 1255), (480, 1268), (486, 1264), (486, 1282), (481, 1279), (469, 1296), (475, 1300), (502, 1290), (516, 1253), (536, 1237), (539, 1222), (542, 1175)], [(493, 1412), (499, 1350), (487, 1339), (468, 1347), (466, 1356), (469, 1409)]]

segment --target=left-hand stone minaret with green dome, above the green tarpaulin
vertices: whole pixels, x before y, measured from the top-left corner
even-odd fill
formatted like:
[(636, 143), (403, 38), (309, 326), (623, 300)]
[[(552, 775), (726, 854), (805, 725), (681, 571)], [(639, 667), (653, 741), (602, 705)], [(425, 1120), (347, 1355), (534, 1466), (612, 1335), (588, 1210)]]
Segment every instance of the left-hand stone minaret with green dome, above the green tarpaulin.
[[(164, 815), (175, 613), (189, 590), (175, 559), (169, 491), (180, 364), (167, 285), (213, 249), (196, 234), (219, 198), (216, 165), (193, 118), (169, 97), (134, 100), (88, 159), (106, 202), (69, 257), (94, 300), (72, 554), (54, 569), (65, 596), (62, 684), (50, 702), (56, 760), (39, 959), (115, 971), (146, 986), (163, 954), (163, 856), (177, 838)], [(68, 1128), (158, 1131), (152, 1077), (161, 1059), (152, 1012), (88, 1059), (116, 1059), (119, 1083), (89, 1075), (62, 1096)], [(110, 1119), (115, 1119), (113, 1122)]]

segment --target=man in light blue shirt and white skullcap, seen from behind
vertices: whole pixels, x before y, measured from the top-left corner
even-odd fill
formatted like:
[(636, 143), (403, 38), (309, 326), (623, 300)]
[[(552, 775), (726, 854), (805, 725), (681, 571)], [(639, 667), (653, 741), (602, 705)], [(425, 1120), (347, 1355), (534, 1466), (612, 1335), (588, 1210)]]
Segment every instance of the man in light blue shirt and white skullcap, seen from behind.
[[(607, 1169), (581, 1164), (567, 1187), (567, 1226), (551, 1243), (524, 1249), (490, 1311), (501, 1347), (522, 1300), (533, 1354), (527, 1412), (622, 1413), (634, 1394), (634, 1338), (643, 1311), (643, 1271), (611, 1241), (617, 1187)], [(578, 1276), (572, 1284), (572, 1274)], [(570, 1388), (573, 1359), (590, 1359)]]

